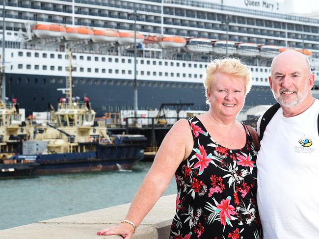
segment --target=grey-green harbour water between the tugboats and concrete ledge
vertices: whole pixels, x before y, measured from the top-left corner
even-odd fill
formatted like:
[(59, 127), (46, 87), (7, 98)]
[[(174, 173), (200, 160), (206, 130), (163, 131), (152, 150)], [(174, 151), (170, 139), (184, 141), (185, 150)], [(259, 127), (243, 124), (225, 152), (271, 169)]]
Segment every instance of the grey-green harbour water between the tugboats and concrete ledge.
[[(132, 171), (76, 173), (0, 181), (0, 230), (132, 201), (151, 166)], [(176, 193), (173, 179), (164, 195)]]

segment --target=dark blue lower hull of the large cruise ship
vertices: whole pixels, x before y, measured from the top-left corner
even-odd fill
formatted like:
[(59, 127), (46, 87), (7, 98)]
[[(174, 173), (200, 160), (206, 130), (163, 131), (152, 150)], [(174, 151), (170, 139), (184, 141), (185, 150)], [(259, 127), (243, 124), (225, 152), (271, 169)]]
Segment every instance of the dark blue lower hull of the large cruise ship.
[[(174, 80), (174, 79), (172, 79)], [(6, 96), (17, 97), (26, 115), (32, 111), (47, 111), (64, 95), (57, 88), (65, 88), (65, 77), (6, 74)], [(73, 77), (73, 95), (89, 97), (97, 116), (105, 112), (133, 109), (133, 80)], [(98, 84), (96, 82), (99, 82)], [(202, 83), (138, 80), (138, 107), (142, 110), (159, 108), (162, 103), (193, 103), (189, 110), (207, 110)], [(268, 86), (253, 86), (246, 98), (246, 106), (274, 104)]]

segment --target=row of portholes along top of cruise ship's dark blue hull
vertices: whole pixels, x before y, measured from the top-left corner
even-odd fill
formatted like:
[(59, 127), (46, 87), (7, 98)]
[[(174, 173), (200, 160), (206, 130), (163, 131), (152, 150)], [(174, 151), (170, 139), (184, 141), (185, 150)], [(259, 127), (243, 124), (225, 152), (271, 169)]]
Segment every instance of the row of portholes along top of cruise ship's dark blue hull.
[[(24, 79), (25, 83), (29, 84), (30, 83), (30, 79)], [(13, 79), (10, 78), (9, 82), (12, 83)], [(17, 81), (19, 84), (23, 82), (23, 80), (21, 78), (18, 78)], [(38, 83), (42, 83), (42, 84), (46, 84), (47, 83), (47, 79), (42, 79), (42, 81), (40, 82), (39, 79), (35, 78), (33, 79), (33, 82), (35, 84)], [(49, 79), (50, 83), (58, 83), (58, 84), (63, 84), (65, 82), (65, 80), (63, 78), (51, 78)], [(93, 80), (93, 79), (72, 79), (72, 83), (73, 84), (87, 84), (87, 85), (92, 85), (93, 83), (95, 85), (122, 85), (122, 86), (133, 86), (133, 80)], [(204, 86), (202, 83), (180, 83), (180, 82), (152, 82), (152, 81), (137, 81), (137, 85), (141, 86), (141, 87), (170, 87), (170, 88), (194, 88), (194, 89), (198, 89), (198, 88), (203, 88)]]

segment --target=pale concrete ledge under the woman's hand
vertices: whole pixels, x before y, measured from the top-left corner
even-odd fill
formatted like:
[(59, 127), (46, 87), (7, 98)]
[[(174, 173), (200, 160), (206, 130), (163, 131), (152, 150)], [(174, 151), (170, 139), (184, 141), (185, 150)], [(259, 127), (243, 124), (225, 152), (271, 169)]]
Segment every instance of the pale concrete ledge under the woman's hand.
[[(137, 228), (133, 239), (167, 239), (175, 215), (176, 195), (161, 197)], [(121, 239), (96, 232), (122, 220), (130, 204), (83, 212), (0, 231), (0, 239)]]

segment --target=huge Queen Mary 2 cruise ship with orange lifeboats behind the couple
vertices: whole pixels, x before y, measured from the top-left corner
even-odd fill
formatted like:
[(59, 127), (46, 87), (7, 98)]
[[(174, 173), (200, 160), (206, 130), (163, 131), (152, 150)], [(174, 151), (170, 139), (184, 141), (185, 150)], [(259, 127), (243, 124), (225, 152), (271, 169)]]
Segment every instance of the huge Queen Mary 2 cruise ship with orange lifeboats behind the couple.
[(6, 0), (5, 14), (3, 3), (6, 97), (27, 115), (64, 97), (68, 49), (73, 96), (100, 116), (133, 109), (134, 60), (140, 110), (207, 109), (203, 72), (226, 55), (252, 72), (246, 107), (274, 103), (268, 76), (282, 51), (306, 54), (319, 76), (319, 19), (290, 15), (289, 0)]

